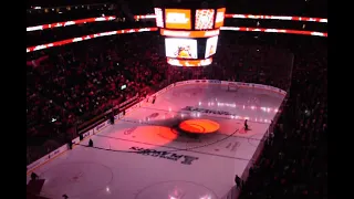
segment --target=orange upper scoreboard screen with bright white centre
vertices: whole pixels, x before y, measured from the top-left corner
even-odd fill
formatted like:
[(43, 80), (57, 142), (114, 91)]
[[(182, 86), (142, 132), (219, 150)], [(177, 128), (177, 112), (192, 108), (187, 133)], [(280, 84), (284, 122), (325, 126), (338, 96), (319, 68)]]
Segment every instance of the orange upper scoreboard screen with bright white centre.
[(165, 9), (167, 29), (191, 29), (190, 10)]

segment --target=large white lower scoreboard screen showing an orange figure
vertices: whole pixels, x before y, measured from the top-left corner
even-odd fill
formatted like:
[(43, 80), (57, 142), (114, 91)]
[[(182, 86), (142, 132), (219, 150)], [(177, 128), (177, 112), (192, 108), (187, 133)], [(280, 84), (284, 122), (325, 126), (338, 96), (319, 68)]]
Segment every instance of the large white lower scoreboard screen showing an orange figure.
[(165, 39), (166, 56), (177, 59), (197, 59), (197, 40), (192, 39)]

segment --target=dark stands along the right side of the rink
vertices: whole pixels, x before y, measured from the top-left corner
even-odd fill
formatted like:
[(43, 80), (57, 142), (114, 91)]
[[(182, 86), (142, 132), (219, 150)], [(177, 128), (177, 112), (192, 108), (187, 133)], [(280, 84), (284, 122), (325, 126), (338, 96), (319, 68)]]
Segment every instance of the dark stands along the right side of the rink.
[(295, 52), (281, 118), (249, 171), (241, 199), (327, 198), (327, 48), (315, 39), (305, 42)]

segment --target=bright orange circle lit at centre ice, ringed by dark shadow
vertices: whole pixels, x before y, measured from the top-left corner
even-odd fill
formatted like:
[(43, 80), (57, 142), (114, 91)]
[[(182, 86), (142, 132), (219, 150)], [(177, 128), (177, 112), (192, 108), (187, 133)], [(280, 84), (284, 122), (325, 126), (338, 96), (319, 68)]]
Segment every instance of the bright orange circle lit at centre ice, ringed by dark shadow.
[(220, 125), (209, 119), (188, 119), (181, 122), (178, 127), (190, 134), (212, 134), (220, 128)]

